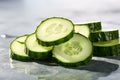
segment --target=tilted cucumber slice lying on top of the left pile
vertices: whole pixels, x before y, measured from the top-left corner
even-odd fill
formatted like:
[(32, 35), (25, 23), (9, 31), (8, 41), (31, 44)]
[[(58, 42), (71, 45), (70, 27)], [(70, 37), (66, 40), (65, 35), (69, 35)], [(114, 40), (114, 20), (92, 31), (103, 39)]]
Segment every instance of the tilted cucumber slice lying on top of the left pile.
[(74, 25), (65, 18), (45, 19), (36, 29), (38, 42), (43, 46), (58, 45), (73, 37)]

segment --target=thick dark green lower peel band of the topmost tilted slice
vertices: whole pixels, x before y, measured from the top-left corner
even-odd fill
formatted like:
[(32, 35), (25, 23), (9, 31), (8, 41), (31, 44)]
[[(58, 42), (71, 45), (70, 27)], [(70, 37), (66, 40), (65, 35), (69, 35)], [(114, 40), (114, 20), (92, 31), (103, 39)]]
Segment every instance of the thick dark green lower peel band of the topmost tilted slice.
[(64, 42), (70, 40), (73, 37), (73, 33), (74, 33), (74, 31), (72, 31), (68, 36), (61, 38), (59, 40), (53, 41), (53, 42), (41, 41), (38, 38), (37, 38), (37, 40), (38, 40), (38, 43), (43, 46), (53, 46), (53, 45), (58, 45), (58, 44), (61, 44), (61, 43), (64, 43)]

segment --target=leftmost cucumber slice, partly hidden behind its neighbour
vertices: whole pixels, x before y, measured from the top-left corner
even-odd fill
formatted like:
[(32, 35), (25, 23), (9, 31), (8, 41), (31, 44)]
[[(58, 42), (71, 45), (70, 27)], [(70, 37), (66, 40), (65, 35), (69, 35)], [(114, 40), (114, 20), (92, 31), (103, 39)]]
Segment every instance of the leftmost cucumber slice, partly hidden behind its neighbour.
[(31, 58), (26, 55), (25, 51), (25, 39), (27, 35), (17, 37), (10, 44), (10, 57), (12, 59), (21, 60), (21, 61), (29, 61)]

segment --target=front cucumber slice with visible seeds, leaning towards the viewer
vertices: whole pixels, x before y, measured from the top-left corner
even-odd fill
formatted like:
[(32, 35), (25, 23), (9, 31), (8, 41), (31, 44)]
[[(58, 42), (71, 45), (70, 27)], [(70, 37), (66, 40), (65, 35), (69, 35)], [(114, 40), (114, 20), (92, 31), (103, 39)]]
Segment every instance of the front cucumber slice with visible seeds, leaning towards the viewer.
[(69, 41), (54, 47), (53, 57), (63, 66), (84, 65), (92, 57), (92, 43), (85, 36), (74, 34)]

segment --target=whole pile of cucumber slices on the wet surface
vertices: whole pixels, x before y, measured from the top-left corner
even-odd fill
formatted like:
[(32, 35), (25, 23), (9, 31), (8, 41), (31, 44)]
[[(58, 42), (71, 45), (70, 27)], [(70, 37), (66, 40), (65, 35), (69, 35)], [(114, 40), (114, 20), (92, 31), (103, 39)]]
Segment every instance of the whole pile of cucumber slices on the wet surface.
[(66, 18), (47, 18), (34, 33), (19, 36), (11, 42), (10, 58), (52, 60), (72, 67), (87, 64), (92, 55), (118, 55), (118, 30), (102, 31), (101, 28), (101, 22), (73, 24)]

